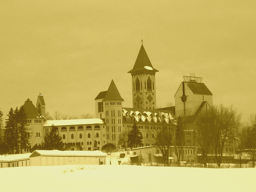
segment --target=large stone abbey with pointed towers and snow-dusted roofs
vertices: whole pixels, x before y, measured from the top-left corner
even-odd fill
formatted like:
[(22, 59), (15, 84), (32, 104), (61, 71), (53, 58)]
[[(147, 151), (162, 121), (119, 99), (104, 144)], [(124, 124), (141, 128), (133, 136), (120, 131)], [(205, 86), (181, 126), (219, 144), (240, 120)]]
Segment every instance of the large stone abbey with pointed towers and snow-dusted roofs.
[[(158, 70), (151, 64), (142, 45), (133, 68), (128, 72), (132, 76), (132, 108), (122, 106), (124, 99), (112, 80), (108, 89), (99, 92), (95, 98), (94, 119), (46, 120), (43, 95), (38, 95), (36, 106), (26, 100), (23, 106), (29, 123), (30, 146), (25, 151), (40, 144), (52, 125), (65, 144), (73, 143), (70, 150), (94, 150), (95, 143), (99, 150), (107, 143), (113, 143), (118, 149), (120, 139), (134, 122), (142, 133), (141, 147), (154, 146), (159, 130), (167, 128), (173, 132), (178, 117), (193, 121), (201, 110), (212, 106), (212, 93), (202, 83), (202, 78), (192, 75), (184, 76), (180, 86), (177, 85), (178, 90), (174, 93), (176, 106), (157, 109), (156, 72)], [(193, 130), (186, 131), (186, 146), (195, 147)]]

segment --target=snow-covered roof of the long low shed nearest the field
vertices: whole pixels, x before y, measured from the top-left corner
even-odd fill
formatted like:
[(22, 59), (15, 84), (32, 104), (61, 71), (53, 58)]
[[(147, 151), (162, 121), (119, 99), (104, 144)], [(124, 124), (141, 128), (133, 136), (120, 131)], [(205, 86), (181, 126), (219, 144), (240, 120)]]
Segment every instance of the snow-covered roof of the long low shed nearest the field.
[(104, 152), (101, 152), (98, 150), (96, 151), (35, 150), (33, 153), (35, 152), (37, 152), (41, 156), (107, 156)]

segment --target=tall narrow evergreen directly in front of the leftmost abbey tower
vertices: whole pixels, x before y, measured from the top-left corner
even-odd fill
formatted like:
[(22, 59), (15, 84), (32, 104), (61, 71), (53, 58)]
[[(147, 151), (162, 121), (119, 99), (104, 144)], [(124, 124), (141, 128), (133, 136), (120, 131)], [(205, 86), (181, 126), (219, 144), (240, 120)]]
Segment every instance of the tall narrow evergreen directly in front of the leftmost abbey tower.
[(28, 123), (27, 123), (27, 116), (23, 106), (20, 107), (18, 111), (18, 133), (19, 133), (19, 144), (20, 144), (20, 151), (22, 153), (22, 149), (25, 149), (27, 145), (29, 145), (29, 138), (28, 138)]

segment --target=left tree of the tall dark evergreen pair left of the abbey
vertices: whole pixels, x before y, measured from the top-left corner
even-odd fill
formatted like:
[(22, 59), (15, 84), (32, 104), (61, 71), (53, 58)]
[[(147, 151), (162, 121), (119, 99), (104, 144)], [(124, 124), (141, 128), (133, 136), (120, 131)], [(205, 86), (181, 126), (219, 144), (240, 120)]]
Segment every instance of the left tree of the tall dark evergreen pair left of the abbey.
[(7, 144), (10, 153), (14, 153), (14, 150), (18, 148), (18, 130), (15, 121), (17, 112), (18, 108), (16, 108), (15, 112), (11, 108), (7, 115), (8, 120), (5, 122), (4, 142)]

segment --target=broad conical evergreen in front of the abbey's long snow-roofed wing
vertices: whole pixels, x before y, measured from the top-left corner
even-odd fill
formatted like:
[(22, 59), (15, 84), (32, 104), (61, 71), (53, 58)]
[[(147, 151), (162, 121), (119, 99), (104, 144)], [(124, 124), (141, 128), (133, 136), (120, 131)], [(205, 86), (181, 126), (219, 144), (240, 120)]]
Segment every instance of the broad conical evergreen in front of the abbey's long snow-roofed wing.
[(42, 142), (42, 148), (44, 150), (63, 150), (64, 143), (62, 142), (62, 137), (54, 128), (54, 124), (52, 124), (52, 128), (49, 134), (44, 136), (44, 142)]

